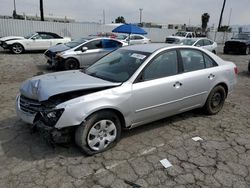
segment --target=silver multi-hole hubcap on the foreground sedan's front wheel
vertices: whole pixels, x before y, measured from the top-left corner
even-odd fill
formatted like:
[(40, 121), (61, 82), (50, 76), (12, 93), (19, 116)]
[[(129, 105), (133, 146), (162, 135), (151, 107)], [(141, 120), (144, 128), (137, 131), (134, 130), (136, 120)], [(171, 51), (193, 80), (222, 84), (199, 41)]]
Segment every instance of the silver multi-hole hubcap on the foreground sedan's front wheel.
[(90, 129), (87, 143), (92, 150), (100, 151), (116, 139), (116, 134), (116, 126), (112, 121), (101, 120)]

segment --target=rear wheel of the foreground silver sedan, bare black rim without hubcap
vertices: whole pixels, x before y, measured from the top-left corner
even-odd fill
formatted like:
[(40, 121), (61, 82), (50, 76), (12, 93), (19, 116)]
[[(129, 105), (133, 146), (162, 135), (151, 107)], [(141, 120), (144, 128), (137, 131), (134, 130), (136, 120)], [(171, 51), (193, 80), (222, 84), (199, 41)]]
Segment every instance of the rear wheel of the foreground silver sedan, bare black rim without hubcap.
[(204, 105), (205, 112), (209, 115), (217, 114), (222, 109), (225, 99), (225, 88), (221, 85), (214, 87), (207, 98), (206, 104)]

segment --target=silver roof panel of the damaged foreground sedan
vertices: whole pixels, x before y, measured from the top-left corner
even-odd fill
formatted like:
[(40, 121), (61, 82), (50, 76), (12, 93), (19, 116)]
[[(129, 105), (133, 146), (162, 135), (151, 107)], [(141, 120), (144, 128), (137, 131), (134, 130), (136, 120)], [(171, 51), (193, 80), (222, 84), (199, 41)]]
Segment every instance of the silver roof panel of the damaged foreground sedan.
[(167, 43), (149, 43), (149, 44), (126, 46), (126, 47), (123, 47), (123, 49), (153, 53), (156, 50), (159, 50), (161, 48), (173, 47), (173, 46), (179, 46), (179, 45), (167, 44)]

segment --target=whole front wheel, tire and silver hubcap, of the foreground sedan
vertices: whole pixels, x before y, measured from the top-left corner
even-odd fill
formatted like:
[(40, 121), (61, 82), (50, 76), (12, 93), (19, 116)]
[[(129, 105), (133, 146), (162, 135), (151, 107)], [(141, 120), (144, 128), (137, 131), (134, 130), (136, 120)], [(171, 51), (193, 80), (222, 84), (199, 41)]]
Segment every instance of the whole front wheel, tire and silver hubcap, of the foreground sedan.
[(116, 145), (121, 137), (121, 122), (111, 111), (91, 115), (77, 127), (75, 142), (87, 155), (104, 152)]

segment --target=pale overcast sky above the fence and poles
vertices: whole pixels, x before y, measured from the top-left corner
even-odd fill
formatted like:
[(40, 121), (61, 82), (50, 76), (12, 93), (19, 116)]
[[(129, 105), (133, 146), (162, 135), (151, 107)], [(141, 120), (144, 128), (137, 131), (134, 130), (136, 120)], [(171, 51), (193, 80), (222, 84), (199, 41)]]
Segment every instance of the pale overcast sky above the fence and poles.
[[(201, 14), (210, 14), (209, 25), (218, 25), (223, 0), (43, 0), (45, 16), (69, 17), (77, 21), (99, 22), (105, 10), (106, 23), (118, 16), (128, 23), (139, 22), (139, 8), (143, 8), (142, 21), (200, 25)], [(14, 0), (1, 0), (0, 14), (11, 15)], [(40, 15), (39, 0), (16, 0), (18, 14)], [(223, 25), (250, 24), (250, 0), (227, 0)]]

